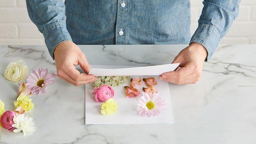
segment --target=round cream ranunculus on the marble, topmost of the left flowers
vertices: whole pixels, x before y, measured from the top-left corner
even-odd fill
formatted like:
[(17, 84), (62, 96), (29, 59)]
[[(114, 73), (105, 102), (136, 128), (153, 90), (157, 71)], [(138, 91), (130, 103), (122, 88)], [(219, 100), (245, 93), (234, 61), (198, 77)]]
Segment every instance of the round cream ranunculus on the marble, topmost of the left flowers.
[(23, 60), (10, 63), (5, 70), (5, 78), (9, 81), (23, 81), (28, 76), (28, 66)]

